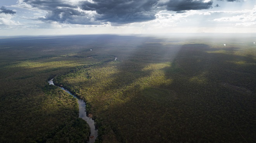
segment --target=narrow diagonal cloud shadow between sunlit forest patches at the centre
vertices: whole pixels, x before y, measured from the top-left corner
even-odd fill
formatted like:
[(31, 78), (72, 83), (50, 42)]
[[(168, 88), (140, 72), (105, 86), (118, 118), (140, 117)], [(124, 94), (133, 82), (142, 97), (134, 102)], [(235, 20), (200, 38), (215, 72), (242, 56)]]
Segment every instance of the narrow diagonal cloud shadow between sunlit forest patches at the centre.
[(150, 77), (153, 70), (143, 70), (145, 67), (153, 63), (167, 62), (167, 60), (175, 57), (177, 51), (178, 48), (171, 51), (170, 48), (159, 43), (144, 43), (137, 46), (129, 54), (123, 53), (126, 54), (126, 57), (120, 58), (121, 62), (115, 64), (118, 72), (109, 76), (113, 80), (103, 90), (121, 89), (124, 86), (131, 85), (139, 78)]

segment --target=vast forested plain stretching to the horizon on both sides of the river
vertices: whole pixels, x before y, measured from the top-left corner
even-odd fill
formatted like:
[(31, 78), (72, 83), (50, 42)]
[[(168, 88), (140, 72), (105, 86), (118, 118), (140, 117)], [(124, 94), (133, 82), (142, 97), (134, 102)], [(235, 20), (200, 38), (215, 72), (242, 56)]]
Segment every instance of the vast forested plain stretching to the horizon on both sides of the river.
[(0, 39), (3, 142), (88, 140), (51, 78), (86, 101), (99, 143), (256, 141), (255, 37), (26, 38)]

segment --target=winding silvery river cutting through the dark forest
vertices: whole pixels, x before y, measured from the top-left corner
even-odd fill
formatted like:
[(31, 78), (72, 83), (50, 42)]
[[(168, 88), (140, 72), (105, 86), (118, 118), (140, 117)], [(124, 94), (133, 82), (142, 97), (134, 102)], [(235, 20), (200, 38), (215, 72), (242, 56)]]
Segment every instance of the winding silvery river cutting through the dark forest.
[[(50, 85), (54, 85), (53, 79), (49, 80), (48, 83)], [(96, 137), (98, 136), (98, 131), (95, 129), (94, 126), (94, 121), (92, 120), (92, 118), (87, 117), (86, 116), (86, 109), (85, 109), (85, 101), (80, 99), (79, 97), (71, 94), (67, 89), (64, 89), (63, 87), (58, 86), (59, 88), (61, 88), (62, 90), (64, 90), (65, 92), (69, 93), (70, 95), (72, 95), (73, 97), (78, 99), (78, 104), (79, 104), (79, 117), (81, 117), (82, 119), (84, 119), (90, 126), (91, 129), (91, 135), (90, 135), (90, 140), (87, 143), (94, 143)]]

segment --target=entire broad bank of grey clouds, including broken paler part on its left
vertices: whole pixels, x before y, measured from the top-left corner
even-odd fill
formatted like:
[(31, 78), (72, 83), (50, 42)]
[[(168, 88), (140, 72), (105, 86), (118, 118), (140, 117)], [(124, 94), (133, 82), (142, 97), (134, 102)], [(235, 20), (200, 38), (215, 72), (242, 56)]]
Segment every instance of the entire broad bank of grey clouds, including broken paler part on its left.
[(93, 2), (81, 1), (76, 5), (64, 0), (23, 0), (23, 2), (48, 12), (40, 20), (67, 24), (143, 22), (156, 19), (155, 15), (159, 10), (183, 13), (189, 10), (210, 9), (213, 4), (213, 0), (209, 2), (204, 0), (93, 0)]

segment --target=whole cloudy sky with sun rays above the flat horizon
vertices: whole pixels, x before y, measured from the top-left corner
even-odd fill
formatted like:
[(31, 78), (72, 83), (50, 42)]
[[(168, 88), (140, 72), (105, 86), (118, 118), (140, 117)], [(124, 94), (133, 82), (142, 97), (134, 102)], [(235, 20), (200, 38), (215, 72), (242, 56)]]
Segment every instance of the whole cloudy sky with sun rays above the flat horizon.
[(256, 33), (256, 0), (1, 0), (0, 36)]

